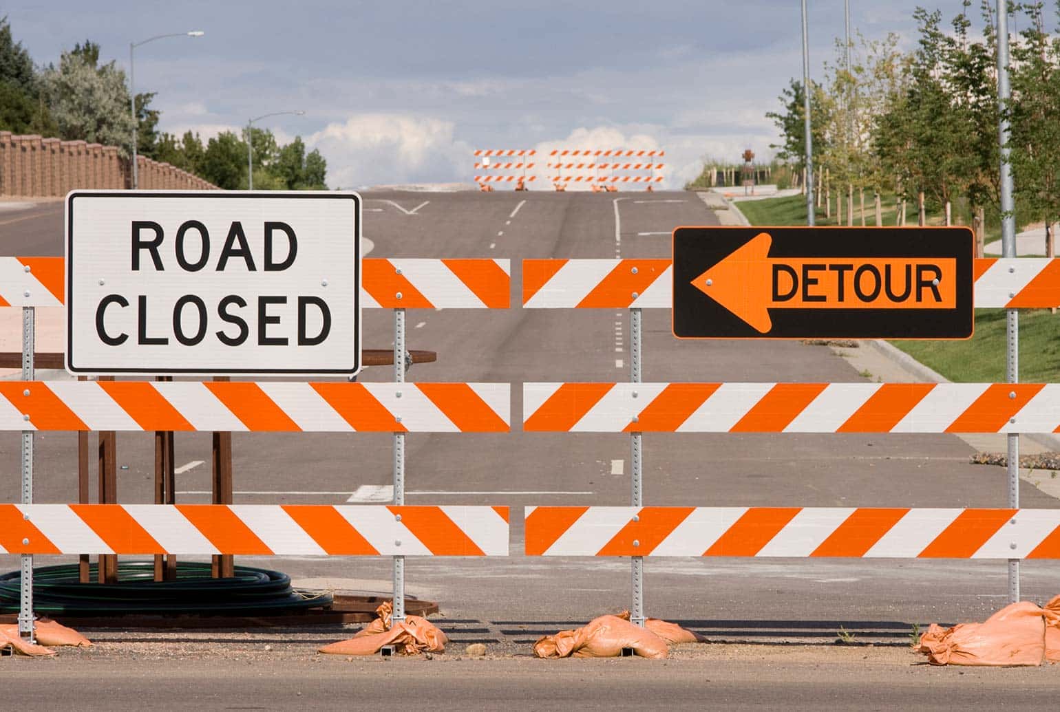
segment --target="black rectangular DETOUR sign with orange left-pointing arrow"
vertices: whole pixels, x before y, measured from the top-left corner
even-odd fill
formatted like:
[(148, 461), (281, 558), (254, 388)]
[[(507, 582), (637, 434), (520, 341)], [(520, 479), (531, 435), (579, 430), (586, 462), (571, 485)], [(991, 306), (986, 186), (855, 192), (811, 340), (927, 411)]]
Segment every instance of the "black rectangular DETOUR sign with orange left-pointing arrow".
[(967, 228), (677, 228), (673, 333), (686, 339), (966, 339)]

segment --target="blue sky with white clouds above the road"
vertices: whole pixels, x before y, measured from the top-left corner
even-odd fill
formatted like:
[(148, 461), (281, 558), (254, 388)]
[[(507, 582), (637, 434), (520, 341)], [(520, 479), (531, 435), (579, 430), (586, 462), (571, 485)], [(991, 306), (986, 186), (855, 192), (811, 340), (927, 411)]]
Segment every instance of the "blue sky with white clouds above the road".
[[(851, 0), (868, 38), (915, 43), (917, 4)], [(834, 53), (843, 0), (810, 0), (811, 71)], [(977, 3), (976, 3), (977, 7)], [(293, 10), (294, 8), (294, 10)], [(799, 3), (631, 2), (84, 2), (7, 0), (16, 39), (57, 61), (86, 38), (157, 91), (161, 128), (204, 138), (269, 111), (282, 140), (301, 135), (328, 159), (331, 186), (467, 182), (475, 148), (662, 148), (668, 184), (707, 156), (770, 153), (764, 113), (801, 75)]]

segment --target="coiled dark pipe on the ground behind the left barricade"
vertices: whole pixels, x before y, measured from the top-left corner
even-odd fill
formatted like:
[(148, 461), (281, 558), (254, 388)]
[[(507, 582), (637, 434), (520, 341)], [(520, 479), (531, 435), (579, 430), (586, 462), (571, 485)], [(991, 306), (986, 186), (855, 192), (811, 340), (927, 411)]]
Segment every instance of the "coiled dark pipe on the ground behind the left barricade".
[[(328, 592), (300, 592), (280, 571), (236, 566), (211, 578), (210, 564), (179, 562), (176, 581), (155, 581), (154, 562), (119, 562), (118, 583), (83, 584), (76, 564), (34, 569), (33, 608), (48, 616), (279, 615), (331, 605)], [(96, 581), (96, 567), (90, 567)], [(19, 610), (19, 572), (0, 574), (0, 613)]]

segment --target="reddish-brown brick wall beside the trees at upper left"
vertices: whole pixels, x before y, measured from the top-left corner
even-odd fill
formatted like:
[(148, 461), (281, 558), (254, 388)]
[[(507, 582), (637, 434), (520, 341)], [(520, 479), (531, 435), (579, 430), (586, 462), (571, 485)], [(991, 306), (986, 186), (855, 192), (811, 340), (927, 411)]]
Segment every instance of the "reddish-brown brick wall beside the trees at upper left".
[[(0, 131), (0, 196), (61, 197), (74, 189), (126, 189), (132, 182), (129, 165), (117, 146)], [(217, 190), (169, 163), (138, 156), (137, 165), (144, 190)]]

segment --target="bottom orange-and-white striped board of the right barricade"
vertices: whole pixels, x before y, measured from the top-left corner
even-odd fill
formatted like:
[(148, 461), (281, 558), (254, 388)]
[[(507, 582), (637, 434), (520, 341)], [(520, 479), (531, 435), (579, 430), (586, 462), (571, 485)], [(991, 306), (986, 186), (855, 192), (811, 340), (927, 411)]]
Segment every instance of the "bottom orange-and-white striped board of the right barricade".
[(528, 556), (1060, 558), (1060, 510), (528, 506)]

